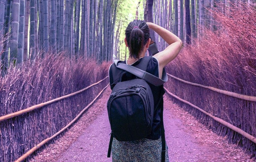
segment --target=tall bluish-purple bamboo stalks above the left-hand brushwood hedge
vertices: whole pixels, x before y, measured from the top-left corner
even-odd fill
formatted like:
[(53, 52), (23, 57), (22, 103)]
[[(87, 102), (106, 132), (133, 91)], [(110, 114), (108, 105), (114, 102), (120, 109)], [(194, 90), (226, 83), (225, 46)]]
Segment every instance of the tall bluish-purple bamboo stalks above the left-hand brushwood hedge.
[(110, 60), (118, 0), (0, 0), (1, 68), (65, 51)]

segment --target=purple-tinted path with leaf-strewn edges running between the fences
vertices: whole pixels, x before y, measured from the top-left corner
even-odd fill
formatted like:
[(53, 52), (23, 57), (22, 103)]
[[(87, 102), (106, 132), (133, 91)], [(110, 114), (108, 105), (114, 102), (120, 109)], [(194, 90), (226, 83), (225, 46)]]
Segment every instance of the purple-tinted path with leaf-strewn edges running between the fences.
[[(111, 161), (107, 158), (111, 132), (106, 109), (109, 94), (108, 88), (101, 100), (87, 112), (95, 120), (88, 121), (89, 116), (84, 115), (54, 145), (31, 160)], [(164, 96), (164, 100), (164, 124), (170, 161), (251, 161), (240, 148), (206, 130), (193, 116), (168, 100), (168, 96)]]

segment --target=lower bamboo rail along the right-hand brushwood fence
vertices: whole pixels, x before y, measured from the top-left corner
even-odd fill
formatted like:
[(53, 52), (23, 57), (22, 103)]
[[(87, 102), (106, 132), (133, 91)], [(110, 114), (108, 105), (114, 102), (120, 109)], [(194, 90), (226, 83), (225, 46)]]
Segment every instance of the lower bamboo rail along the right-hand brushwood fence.
[(226, 121), (224, 121), (224, 120), (222, 120), (222, 119), (220, 119), (220, 118), (218, 118), (218, 117), (215, 117), (215, 116), (209, 114), (208, 112), (206, 112), (206, 111), (202, 110), (201, 108), (199, 108), (199, 107), (193, 105), (192, 103), (190, 103), (190, 102), (188, 102), (188, 101), (186, 101), (186, 100), (183, 100), (183, 99), (179, 98), (178, 96), (176, 96), (176, 95), (172, 94), (171, 92), (169, 92), (165, 87), (164, 87), (164, 89), (165, 89), (165, 91), (166, 91), (169, 95), (171, 95), (172, 97), (174, 97), (174, 98), (178, 99), (179, 101), (184, 102), (184, 103), (186, 103), (186, 104), (188, 104), (188, 105), (190, 105), (190, 106), (196, 108), (197, 110), (199, 110), (199, 111), (201, 111), (202, 113), (208, 115), (209, 117), (211, 117), (211, 118), (214, 119), (215, 121), (217, 121), (217, 122), (219, 122), (219, 123), (221, 123), (221, 124), (227, 126), (228, 128), (230, 128), (230, 129), (236, 131), (237, 133), (241, 134), (242, 136), (246, 137), (247, 139), (251, 140), (252, 142), (254, 142), (254, 143), (256, 144), (256, 138), (253, 137), (251, 134), (245, 132), (244, 130), (242, 130), (242, 129), (240, 129), (240, 128), (238, 128), (238, 127), (236, 127), (236, 126), (234, 126), (234, 125), (232, 125), (232, 124), (230, 124), (230, 123), (228, 123), (228, 122), (226, 122)]

